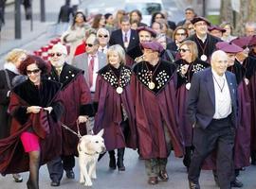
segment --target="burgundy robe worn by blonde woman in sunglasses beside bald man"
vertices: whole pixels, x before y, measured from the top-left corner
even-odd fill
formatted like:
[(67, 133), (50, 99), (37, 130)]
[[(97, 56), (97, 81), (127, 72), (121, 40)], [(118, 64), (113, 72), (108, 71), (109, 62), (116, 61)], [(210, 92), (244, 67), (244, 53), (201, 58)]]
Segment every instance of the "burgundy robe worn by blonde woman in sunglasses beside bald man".
[[(176, 99), (178, 110), (178, 128), (181, 130), (185, 146), (192, 146), (192, 125), (186, 116), (186, 99), (189, 92), (189, 85), (192, 81), (192, 75), (199, 72), (210, 64), (206, 61), (196, 59), (191, 63), (186, 60), (176, 60), (174, 62), (178, 65), (177, 69), (177, 85), (176, 85)], [(188, 72), (185, 76), (181, 75), (181, 66), (189, 65)]]

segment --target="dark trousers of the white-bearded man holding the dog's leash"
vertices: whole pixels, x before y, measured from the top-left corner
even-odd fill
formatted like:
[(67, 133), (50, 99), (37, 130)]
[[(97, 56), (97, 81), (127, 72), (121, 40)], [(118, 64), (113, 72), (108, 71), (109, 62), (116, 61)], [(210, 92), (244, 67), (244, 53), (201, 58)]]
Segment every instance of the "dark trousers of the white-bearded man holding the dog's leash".
[(71, 170), (75, 166), (74, 156), (62, 156), (47, 163), (51, 180), (62, 180), (64, 170)]

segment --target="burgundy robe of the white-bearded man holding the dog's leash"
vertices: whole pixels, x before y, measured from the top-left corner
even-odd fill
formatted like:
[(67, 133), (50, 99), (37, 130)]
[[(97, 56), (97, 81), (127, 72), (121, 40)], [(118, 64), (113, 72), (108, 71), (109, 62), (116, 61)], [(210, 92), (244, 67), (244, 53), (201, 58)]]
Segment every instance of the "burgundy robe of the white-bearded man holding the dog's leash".
[[(64, 115), (62, 123), (69, 129), (78, 131), (77, 119), (79, 115), (92, 116), (94, 114), (90, 90), (86, 84), (83, 72), (72, 65), (64, 63), (60, 77), (52, 66), (47, 79), (57, 80), (63, 84)], [(85, 124), (80, 125), (82, 135), (86, 134)], [(67, 129), (63, 129), (63, 155), (78, 155), (77, 145), (79, 138)]]

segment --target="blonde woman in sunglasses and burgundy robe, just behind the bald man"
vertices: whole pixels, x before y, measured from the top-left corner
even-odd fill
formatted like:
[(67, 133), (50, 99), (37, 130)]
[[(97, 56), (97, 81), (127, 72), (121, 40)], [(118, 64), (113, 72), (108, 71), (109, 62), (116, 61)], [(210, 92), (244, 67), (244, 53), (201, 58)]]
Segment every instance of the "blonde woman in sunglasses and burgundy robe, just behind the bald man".
[(180, 59), (174, 63), (178, 65), (176, 97), (178, 101), (178, 123), (185, 143), (184, 165), (189, 168), (192, 155), (192, 126), (186, 118), (186, 98), (191, 88), (194, 73), (210, 66), (206, 61), (198, 59), (196, 43), (185, 41), (179, 47)]

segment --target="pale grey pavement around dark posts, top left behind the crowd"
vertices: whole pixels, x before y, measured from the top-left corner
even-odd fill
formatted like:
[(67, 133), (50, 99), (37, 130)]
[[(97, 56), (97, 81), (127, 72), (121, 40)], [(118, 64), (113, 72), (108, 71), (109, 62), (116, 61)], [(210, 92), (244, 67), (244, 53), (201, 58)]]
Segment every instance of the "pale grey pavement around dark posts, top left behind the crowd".
[[(46, 22), (42, 23), (40, 21), (40, 1), (33, 1), (32, 30), (31, 22), (25, 19), (24, 7), (21, 6), (22, 38), (19, 40), (15, 39), (14, 4), (6, 7), (6, 24), (2, 27), (0, 37), (0, 69), (9, 50), (13, 48), (25, 48), (27, 51), (32, 52), (42, 45), (46, 45), (51, 38), (56, 37), (50, 36), (50, 34), (52, 26), (57, 22), (58, 13), (62, 5), (64, 5), (62, 1), (46, 0)], [(28, 45), (30, 43), (32, 45)]]

